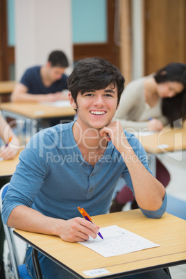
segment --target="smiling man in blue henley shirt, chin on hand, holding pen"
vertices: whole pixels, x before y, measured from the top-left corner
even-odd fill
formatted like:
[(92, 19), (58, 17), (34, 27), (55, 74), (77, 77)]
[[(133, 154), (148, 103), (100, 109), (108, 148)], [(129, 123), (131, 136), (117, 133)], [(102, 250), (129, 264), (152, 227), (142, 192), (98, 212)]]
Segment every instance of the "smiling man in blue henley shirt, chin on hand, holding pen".
[[(66, 242), (96, 238), (99, 224), (82, 218), (78, 206), (90, 216), (106, 214), (120, 176), (146, 217), (162, 217), (164, 187), (151, 174), (137, 138), (112, 121), (124, 90), (120, 71), (100, 58), (87, 58), (78, 62), (68, 85), (77, 121), (41, 130), (22, 151), (3, 200), (3, 221)], [(31, 251), (26, 252), (26, 264), (35, 278)], [(75, 278), (41, 253), (39, 261), (44, 278)], [(158, 270), (126, 278), (169, 276)]]

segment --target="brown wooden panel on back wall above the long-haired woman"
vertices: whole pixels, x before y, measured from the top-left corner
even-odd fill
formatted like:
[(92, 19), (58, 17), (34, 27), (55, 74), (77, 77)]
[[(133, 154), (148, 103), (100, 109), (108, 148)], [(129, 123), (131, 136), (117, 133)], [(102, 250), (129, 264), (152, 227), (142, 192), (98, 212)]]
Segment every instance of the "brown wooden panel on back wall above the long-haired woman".
[[(155, 1), (155, 0), (153, 0)], [(171, 7), (171, 1), (165, 1), (167, 2), (167, 7)], [(149, 32), (149, 5), (152, 3), (151, 1), (148, 0), (144, 0), (144, 11), (145, 11), (145, 28), (144, 28), (144, 33), (145, 33), (145, 44), (144, 44), (144, 52), (145, 52), (145, 58), (144, 58), (144, 67), (145, 67), (145, 75), (151, 74), (152, 71), (156, 71), (158, 69), (160, 69), (160, 67), (164, 67), (164, 65), (169, 64), (170, 62), (183, 62), (186, 63), (186, 51), (185, 51), (185, 47), (186, 47), (186, 28), (185, 28), (185, 24), (186, 24), (186, 17), (185, 12), (186, 12), (186, 0), (179, 0), (176, 1), (175, 5), (178, 7), (177, 12), (174, 10), (174, 8), (171, 8), (171, 12), (172, 14), (176, 14), (177, 18), (179, 19), (178, 21), (172, 19), (172, 22), (174, 22), (174, 26), (176, 26), (177, 28), (177, 33), (174, 31), (174, 33), (170, 28), (167, 28), (167, 33), (164, 31), (163, 26), (162, 26), (162, 33), (164, 34), (164, 38), (166, 39), (166, 42), (164, 42), (164, 44), (162, 44), (162, 52), (160, 47), (159, 49), (155, 49), (155, 51), (149, 51), (152, 50), (152, 45), (153, 45), (153, 41), (151, 40), (151, 44), (149, 46), (149, 37), (148, 37), (148, 32)], [(161, 1), (155, 2), (156, 5), (159, 5), (159, 9), (162, 9), (162, 3)], [(172, 0), (172, 3), (174, 3), (174, 0)], [(151, 8), (152, 9), (152, 8)], [(153, 9), (152, 9), (153, 10)], [(158, 8), (157, 8), (158, 10)], [(158, 12), (157, 12), (158, 13)], [(165, 12), (164, 12), (165, 13)], [(169, 11), (167, 10), (167, 14), (165, 15), (167, 17), (167, 21), (163, 22), (164, 24), (166, 24), (166, 26), (169, 26), (170, 24), (170, 18), (168, 17), (169, 15)], [(165, 18), (166, 18), (165, 17)], [(164, 17), (162, 16), (162, 14), (159, 14), (159, 18), (157, 17), (157, 23), (160, 25), (162, 22), (162, 19), (164, 19)], [(155, 26), (155, 28), (158, 28), (158, 24), (157, 26), (155, 26), (155, 20), (151, 21), (151, 26)], [(151, 27), (151, 33), (154, 32), (157, 38), (157, 31), (155, 29), (155, 31), (153, 31), (154, 27)], [(160, 30), (160, 27), (159, 27)], [(176, 34), (176, 36), (175, 36)], [(175, 45), (175, 50), (172, 51), (172, 53), (170, 53), (169, 51), (169, 42), (174, 42)], [(161, 42), (161, 41), (160, 41)], [(153, 45), (153, 47), (155, 47), (155, 44)], [(162, 54), (163, 53), (163, 54)], [(162, 57), (163, 56), (163, 57)], [(157, 61), (158, 65), (155, 65), (155, 68), (152, 69), (151, 65), (153, 63), (149, 62), (151, 60), (155, 60), (155, 63)]]

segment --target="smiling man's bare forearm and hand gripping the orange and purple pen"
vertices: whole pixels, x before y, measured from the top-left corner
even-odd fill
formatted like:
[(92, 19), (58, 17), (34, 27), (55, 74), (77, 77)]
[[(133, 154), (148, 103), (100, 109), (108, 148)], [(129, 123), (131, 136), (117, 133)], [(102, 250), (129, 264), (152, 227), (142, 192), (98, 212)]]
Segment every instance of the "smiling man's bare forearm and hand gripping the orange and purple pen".
[(62, 220), (44, 216), (42, 213), (25, 205), (18, 205), (12, 210), (8, 226), (33, 233), (58, 235), (66, 242), (82, 242), (89, 235), (96, 238), (99, 227), (81, 218)]

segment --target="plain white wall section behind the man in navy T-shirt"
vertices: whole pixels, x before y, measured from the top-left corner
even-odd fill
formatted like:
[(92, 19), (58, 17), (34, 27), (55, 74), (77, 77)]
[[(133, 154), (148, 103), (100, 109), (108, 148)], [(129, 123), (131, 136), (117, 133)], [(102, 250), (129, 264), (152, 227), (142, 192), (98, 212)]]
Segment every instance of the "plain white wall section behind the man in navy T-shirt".
[(15, 0), (15, 79), (25, 69), (44, 65), (55, 49), (65, 52), (71, 67), (71, 0)]

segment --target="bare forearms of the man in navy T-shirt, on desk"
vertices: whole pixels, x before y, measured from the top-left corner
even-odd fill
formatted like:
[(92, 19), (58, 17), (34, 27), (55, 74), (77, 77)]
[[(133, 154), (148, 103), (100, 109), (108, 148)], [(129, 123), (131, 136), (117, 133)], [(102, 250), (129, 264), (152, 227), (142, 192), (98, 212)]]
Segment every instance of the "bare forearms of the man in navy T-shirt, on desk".
[(22, 83), (17, 83), (11, 95), (11, 101), (15, 102), (42, 102), (42, 101), (61, 101), (68, 100), (67, 94), (62, 92), (49, 93), (49, 94), (30, 94), (28, 93), (28, 87)]

